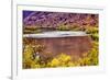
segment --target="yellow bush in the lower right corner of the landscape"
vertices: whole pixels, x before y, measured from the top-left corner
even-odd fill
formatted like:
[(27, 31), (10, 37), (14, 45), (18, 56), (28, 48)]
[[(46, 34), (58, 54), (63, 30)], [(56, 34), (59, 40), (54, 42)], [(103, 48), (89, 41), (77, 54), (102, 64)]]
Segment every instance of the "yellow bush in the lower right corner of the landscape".
[(82, 58), (80, 58), (78, 62), (80, 64), (80, 66), (97, 66), (99, 60), (98, 53), (98, 46), (96, 44), (94, 45), (94, 48), (91, 48), (91, 50), (84, 54)]

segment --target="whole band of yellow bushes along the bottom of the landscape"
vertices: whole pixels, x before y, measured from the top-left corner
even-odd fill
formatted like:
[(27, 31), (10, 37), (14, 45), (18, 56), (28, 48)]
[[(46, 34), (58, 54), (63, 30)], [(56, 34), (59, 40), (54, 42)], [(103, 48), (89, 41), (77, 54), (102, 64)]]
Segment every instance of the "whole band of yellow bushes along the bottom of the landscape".
[[(46, 68), (46, 67), (76, 67), (76, 66), (97, 66), (98, 65), (98, 42), (92, 42), (91, 50), (85, 53), (82, 57), (67, 54), (59, 54), (52, 57), (52, 53), (44, 54), (42, 58), (33, 58), (34, 48), (32, 45), (25, 45), (23, 52), (23, 69)], [(37, 45), (41, 52), (41, 45)]]

